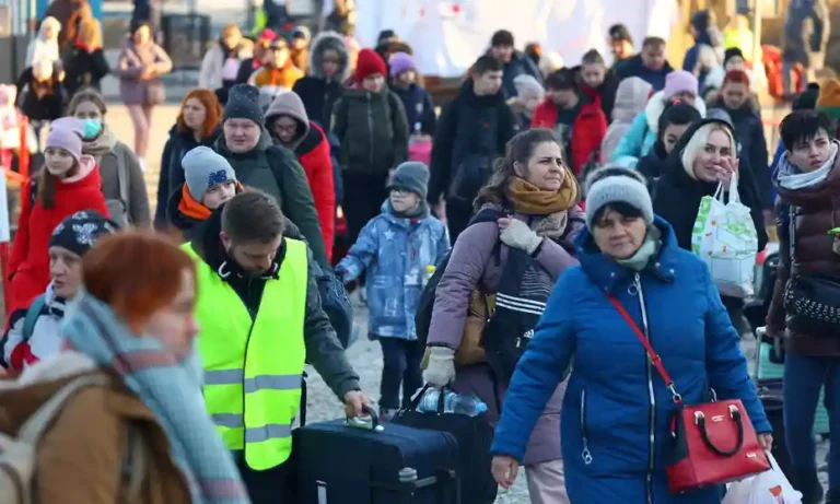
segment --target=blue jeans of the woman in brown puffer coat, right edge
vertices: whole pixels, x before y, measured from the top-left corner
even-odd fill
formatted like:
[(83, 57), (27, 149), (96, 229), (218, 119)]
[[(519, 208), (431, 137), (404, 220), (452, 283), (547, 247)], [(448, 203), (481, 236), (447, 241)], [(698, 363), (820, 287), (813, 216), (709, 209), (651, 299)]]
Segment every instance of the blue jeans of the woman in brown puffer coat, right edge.
[[(784, 441), (794, 466), (796, 489), (809, 493), (818, 484), (814, 415), (819, 391), (826, 386), (829, 430), (840, 433), (840, 358), (812, 358), (788, 353), (784, 358)], [(829, 491), (840, 491), (840, 443), (828, 457)]]

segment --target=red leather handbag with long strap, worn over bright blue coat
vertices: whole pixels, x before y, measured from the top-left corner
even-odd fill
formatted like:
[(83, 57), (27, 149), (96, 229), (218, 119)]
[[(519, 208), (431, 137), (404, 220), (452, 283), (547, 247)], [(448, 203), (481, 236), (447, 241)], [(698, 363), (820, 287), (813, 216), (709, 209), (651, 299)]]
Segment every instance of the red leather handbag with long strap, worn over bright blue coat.
[(644, 332), (618, 300), (610, 295), (607, 297), (644, 345), (651, 364), (656, 367), (674, 398), (676, 411), (670, 420), (670, 444), (665, 467), (670, 493), (727, 483), (769, 470), (770, 461), (740, 399), (684, 405), (674, 380)]

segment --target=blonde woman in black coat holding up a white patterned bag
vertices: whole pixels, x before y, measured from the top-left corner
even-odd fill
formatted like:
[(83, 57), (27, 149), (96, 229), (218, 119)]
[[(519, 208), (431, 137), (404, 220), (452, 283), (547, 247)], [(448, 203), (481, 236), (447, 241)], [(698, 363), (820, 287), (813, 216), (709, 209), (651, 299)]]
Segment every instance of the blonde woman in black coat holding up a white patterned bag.
[[(686, 130), (665, 164), (665, 173), (656, 184), (653, 211), (674, 228), (677, 244), (691, 250), (691, 234), (704, 196), (714, 195), (719, 183), (728, 190), (733, 176), (738, 177), (740, 202), (750, 209), (758, 232), (758, 250), (767, 245), (761, 198), (751, 169), (739, 163), (735, 132), (721, 119), (704, 119)], [(740, 333), (747, 331), (740, 312), (740, 298), (723, 296), (732, 323)]]

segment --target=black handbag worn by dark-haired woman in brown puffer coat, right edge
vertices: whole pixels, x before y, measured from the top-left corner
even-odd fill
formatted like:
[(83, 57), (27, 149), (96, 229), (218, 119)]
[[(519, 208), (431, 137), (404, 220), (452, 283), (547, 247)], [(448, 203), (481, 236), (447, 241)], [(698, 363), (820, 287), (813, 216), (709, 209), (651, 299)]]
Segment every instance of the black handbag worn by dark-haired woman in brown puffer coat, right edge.
[[(796, 254), (796, 213), (790, 211), (791, 262)], [(788, 326), (797, 331), (840, 332), (840, 278), (821, 273), (796, 274), (784, 290)]]

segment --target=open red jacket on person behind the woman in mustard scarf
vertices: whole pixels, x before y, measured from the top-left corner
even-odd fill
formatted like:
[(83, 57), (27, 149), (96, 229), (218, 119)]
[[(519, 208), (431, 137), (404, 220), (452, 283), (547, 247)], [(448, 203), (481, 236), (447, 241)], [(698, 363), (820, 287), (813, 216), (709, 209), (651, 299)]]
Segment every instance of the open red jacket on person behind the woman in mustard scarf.
[[(537, 105), (530, 121), (532, 128), (553, 129), (557, 125), (557, 105), (551, 98), (546, 98)], [(600, 109), (600, 98), (595, 97), (581, 107), (578, 118), (572, 125), (572, 169), (575, 175), (590, 159), (593, 152), (600, 148), (600, 142), (607, 134), (607, 116)], [(599, 161), (600, 155), (595, 161)]]

